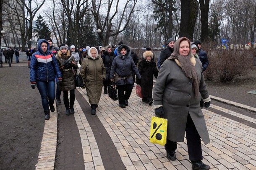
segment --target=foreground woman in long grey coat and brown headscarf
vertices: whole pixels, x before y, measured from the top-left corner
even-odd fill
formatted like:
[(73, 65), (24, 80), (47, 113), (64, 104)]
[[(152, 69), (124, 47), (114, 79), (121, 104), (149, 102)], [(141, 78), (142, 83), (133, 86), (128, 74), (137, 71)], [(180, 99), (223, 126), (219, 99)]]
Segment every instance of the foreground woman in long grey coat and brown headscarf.
[[(191, 54), (190, 41), (182, 37), (175, 42), (174, 52), (165, 60), (154, 86), (154, 107), (156, 116), (167, 118), (167, 158), (175, 160), (177, 142), (188, 143), (188, 155), (192, 168), (209, 170), (209, 165), (201, 160), (201, 139), (204, 144), (210, 142), (204, 115), (200, 108), (210, 106), (210, 97), (204, 82), (199, 61)], [(201, 138), (201, 139), (200, 139)]]

